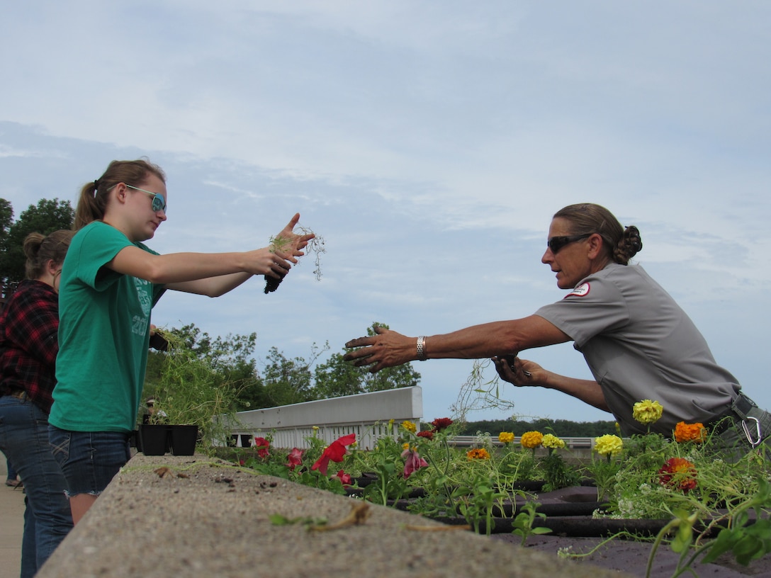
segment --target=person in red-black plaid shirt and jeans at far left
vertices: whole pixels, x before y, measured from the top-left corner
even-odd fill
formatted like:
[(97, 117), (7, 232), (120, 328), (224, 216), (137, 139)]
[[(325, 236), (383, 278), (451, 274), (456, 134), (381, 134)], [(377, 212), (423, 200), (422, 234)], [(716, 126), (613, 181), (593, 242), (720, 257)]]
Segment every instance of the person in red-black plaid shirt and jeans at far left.
[(48, 442), (59, 351), (59, 275), (73, 231), (27, 236), (27, 279), (0, 313), (0, 449), (24, 482), (21, 576), (34, 576), (72, 529), (66, 480)]

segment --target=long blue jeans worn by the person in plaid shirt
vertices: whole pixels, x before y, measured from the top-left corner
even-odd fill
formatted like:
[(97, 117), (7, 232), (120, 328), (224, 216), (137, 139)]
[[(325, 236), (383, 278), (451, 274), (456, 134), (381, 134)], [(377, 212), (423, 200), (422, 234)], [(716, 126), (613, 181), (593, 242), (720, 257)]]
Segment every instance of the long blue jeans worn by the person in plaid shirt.
[(53, 459), (48, 415), (29, 400), (0, 398), (0, 449), (24, 482), (22, 578), (34, 576), (72, 529), (67, 482)]

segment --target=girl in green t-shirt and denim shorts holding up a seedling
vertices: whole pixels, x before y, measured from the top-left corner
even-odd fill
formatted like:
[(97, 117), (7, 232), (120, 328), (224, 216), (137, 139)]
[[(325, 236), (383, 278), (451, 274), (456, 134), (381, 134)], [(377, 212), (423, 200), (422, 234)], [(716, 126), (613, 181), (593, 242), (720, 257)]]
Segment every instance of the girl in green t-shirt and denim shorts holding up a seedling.
[(49, 438), (78, 523), (130, 458), (150, 340), (150, 310), (169, 289), (218, 297), (253, 275), (281, 279), (314, 235), (281, 249), (159, 255), (143, 244), (167, 218), (166, 177), (147, 160), (113, 161), (82, 187), (62, 268), (59, 356)]

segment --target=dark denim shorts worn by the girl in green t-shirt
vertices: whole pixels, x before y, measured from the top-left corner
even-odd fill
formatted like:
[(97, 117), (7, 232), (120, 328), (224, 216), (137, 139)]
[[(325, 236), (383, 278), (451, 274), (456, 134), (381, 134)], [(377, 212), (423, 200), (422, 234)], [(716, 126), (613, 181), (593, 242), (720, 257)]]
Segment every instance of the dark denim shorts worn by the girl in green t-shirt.
[(49, 425), (49, 442), (70, 497), (99, 496), (131, 458), (129, 434), (121, 432), (68, 432)]

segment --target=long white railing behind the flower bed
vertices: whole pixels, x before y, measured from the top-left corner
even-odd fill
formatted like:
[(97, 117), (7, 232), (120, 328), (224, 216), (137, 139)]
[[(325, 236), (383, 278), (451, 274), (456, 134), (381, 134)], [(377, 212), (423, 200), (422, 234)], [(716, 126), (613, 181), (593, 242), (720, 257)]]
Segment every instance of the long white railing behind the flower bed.
[(355, 433), (360, 449), (372, 449), (379, 438), (396, 437), (402, 422), (412, 422), (419, 429), (422, 417), (423, 390), (416, 385), (238, 412), (240, 423), (231, 434), (237, 436), (239, 447), (241, 436), (253, 439), (255, 435), (269, 434), (274, 447), (302, 449), (309, 446), (306, 438), (323, 439), (329, 444)]

